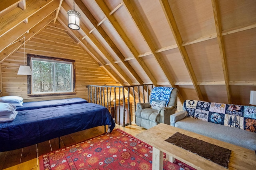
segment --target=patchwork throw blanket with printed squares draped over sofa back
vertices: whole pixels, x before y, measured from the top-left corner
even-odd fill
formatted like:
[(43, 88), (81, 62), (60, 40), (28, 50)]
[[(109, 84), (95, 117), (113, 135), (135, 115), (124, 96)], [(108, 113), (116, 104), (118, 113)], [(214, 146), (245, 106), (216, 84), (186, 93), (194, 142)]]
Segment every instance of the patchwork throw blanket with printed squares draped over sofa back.
[(188, 117), (256, 132), (256, 107), (185, 100)]

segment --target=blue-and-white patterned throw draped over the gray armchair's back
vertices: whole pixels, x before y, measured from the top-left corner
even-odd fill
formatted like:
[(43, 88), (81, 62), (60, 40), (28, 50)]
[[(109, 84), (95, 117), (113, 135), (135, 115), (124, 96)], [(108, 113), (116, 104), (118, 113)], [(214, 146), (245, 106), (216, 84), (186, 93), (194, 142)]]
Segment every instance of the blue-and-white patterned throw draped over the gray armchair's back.
[(151, 98), (150, 98), (150, 104), (152, 104), (152, 100), (162, 100), (166, 101), (166, 106), (168, 106), (168, 103), (170, 101), (170, 96), (172, 93), (171, 87), (155, 87), (152, 89), (151, 92)]

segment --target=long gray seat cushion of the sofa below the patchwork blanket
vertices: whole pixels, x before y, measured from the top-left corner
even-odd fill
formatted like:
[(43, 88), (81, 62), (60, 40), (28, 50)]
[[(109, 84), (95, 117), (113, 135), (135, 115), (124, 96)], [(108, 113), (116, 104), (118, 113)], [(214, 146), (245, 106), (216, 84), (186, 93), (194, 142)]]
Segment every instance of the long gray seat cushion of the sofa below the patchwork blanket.
[(177, 121), (175, 127), (250, 150), (256, 150), (256, 133), (250, 131), (201, 121), (191, 117), (185, 117), (184, 119)]

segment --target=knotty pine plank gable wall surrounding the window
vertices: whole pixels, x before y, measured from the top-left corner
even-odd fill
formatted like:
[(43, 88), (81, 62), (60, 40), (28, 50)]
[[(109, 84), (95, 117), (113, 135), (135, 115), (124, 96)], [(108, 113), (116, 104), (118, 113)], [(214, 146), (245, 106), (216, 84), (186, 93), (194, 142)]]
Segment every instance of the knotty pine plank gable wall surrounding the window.
[[(2, 96), (21, 96), (24, 102), (54, 100), (79, 97), (87, 100), (86, 85), (116, 85), (116, 82), (68, 35), (66, 29), (56, 22), (26, 43), (26, 54), (42, 55), (76, 60), (76, 95), (66, 96), (27, 96), (27, 76), (17, 75), (20, 65), (24, 65), (24, 48), (0, 64), (0, 86)], [(119, 84), (117, 84), (119, 85)]]

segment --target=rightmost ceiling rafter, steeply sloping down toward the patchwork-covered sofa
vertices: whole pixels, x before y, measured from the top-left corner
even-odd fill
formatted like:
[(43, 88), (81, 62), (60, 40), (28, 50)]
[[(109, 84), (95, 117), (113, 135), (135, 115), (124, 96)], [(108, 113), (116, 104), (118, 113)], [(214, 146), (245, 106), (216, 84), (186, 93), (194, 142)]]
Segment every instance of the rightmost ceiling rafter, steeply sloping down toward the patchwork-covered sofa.
[(222, 25), (221, 25), (221, 20), (220, 20), (220, 11), (219, 11), (218, 0), (212, 0), (212, 8), (213, 8), (218, 44), (219, 44), (219, 48), (220, 48), (220, 57), (221, 57), (221, 64), (222, 64), (222, 69), (223, 69), (223, 74), (224, 74), (225, 85), (226, 85), (226, 93), (227, 93), (227, 97), (228, 97), (228, 103), (231, 104), (232, 100), (231, 100), (230, 87), (229, 87), (228, 68), (227, 68), (227, 64), (226, 64), (227, 63), (226, 62), (226, 54), (225, 54), (223, 37), (222, 37)]

